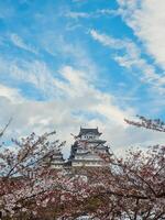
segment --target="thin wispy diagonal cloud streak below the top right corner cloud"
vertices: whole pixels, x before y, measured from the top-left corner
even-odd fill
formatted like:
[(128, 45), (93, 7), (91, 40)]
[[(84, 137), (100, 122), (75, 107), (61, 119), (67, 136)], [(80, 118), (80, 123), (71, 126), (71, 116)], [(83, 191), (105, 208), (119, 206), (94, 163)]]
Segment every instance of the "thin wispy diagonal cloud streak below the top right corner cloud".
[(143, 84), (152, 85), (154, 91), (160, 94), (165, 92), (165, 76), (157, 74), (155, 66), (142, 58), (141, 51), (134, 42), (128, 38), (113, 38), (112, 36), (98, 33), (95, 30), (91, 30), (90, 34), (94, 40), (100, 42), (103, 46), (119, 52), (123, 51), (123, 55), (120, 55), (119, 53), (113, 56), (114, 61), (121, 66), (132, 69), (132, 72), (134, 68), (139, 69), (136, 76)]

